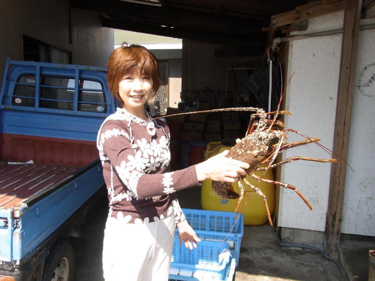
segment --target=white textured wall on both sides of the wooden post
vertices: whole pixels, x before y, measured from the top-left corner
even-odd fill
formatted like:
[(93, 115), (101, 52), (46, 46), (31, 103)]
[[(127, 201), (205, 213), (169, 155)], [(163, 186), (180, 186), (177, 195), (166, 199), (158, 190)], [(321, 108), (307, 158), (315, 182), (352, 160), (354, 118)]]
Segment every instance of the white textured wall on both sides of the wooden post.
[[(343, 12), (336, 12), (309, 20), (309, 28), (304, 32), (342, 28)], [(361, 24), (372, 23), (368, 20)], [(368, 64), (375, 63), (375, 30), (360, 31), (357, 59), (356, 86), (360, 71)], [(336, 98), (338, 90), (342, 35), (321, 36), (290, 42), (288, 77), (293, 73), (285, 97), (285, 109), (292, 112), (285, 117), (288, 128), (296, 129), (312, 138), (320, 138), (324, 146), (332, 149), (335, 126)], [(372, 49), (371, 49), (372, 48)], [(375, 70), (366, 70), (368, 81), (374, 77)], [(372, 72), (371, 72), (372, 71)], [(365, 82), (363, 82), (365, 83)], [(371, 82), (368, 82), (371, 84)], [(371, 125), (374, 117), (374, 84), (356, 87), (353, 102), (353, 117), (350, 133), (348, 162), (354, 169), (347, 170), (345, 187), (343, 233), (374, 235), (375, 191), (374, 161), (371, 135), (375, 127)], [(371, 92), (372, 90), (372, 92)], [(366, 112), (366, 113), (365, 113)], [(365, 113), (365, 114), (364, 114)], [(289, 133), (288, 142), (302, 140)], [(372, 148), (372, 149), (371, 149)], [(330, 158), (330, 155), (317, 145), (306, 145), (287, 150), (283, 159), (301, 155), (313, 158)], [(278, 224), (282, 227), (324, 231), (330, 181), (329, 163), (297, 161), (285, 164), (281, 169), (281, 181), (295, 185), (313, 206), (310, 211), (305, 203), (291, 190), (281, 189)], [(344, 167), (347, 169), (347, 167)], [(355, 221), (355, 223), (354, 223)]]

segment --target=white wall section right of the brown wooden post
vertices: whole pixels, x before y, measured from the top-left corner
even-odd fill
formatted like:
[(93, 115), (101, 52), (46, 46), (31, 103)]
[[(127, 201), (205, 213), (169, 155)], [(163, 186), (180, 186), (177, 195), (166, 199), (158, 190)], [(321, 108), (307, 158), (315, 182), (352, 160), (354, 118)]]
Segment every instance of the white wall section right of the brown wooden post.
[(375, 236), (374, 44), (375, 29), (360, 31), (348, 152), (354, 172), (347, 167), (341, 228), (342, 233), (369, 236)]

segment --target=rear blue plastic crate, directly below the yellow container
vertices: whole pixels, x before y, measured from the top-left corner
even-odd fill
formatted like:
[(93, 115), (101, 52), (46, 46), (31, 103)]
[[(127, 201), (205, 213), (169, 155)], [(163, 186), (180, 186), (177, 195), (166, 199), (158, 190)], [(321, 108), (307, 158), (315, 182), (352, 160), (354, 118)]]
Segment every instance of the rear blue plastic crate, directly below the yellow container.
[[(234, 218), (233, 212), (207, 211), (196, 209), (182, 209), (186, 220), (195, 230), (202, 241), (225, 241), (230, 249), (235, 251), (236, 267), (240, 256), (240, 245), (243, 236), (243, 214), (237, 213), (240, 218)], [(229, 230), (234, 226), (231, 233)], [(175, 237), (178, 237), (176, 229)], [(199, 243), (198, 243), (199, 244)]]

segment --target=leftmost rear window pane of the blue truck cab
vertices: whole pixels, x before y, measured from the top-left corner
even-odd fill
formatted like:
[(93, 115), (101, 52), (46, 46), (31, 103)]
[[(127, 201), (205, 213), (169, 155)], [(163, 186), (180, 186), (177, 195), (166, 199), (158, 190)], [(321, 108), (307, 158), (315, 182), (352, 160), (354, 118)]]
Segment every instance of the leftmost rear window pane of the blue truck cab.
[(20, 76), (14, 87), (12, 105), (35, 106), (35, 75)]

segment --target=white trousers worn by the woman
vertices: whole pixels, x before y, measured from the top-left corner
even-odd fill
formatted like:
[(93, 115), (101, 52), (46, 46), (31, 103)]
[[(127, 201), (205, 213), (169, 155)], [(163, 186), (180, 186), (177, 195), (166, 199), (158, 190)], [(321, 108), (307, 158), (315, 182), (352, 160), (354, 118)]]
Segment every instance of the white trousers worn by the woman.
[(166, 281), (173, 249), (173, 215), (147, 224), (105, 224), (103, 271), (105, 281)]

